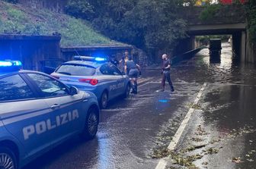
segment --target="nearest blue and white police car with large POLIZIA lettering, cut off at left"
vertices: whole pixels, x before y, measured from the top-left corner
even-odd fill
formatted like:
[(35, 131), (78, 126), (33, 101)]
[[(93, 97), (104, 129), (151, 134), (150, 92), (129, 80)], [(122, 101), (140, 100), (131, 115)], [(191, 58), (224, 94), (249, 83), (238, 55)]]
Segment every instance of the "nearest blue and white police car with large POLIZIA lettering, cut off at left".
[(0, 168), (20, 168), (75, 134), (92, 139), (98, 100), (49, 75), (0, 61)]

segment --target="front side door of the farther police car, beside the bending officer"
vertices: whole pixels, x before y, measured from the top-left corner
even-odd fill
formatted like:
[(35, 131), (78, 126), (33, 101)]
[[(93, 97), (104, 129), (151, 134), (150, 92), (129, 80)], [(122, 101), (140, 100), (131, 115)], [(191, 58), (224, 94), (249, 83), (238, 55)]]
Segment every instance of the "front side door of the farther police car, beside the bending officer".
[(110, 64), (110, 69), (117, 80), (117, 95), (122, 95), (126, 89), (125, 78), (123, 78), (121, 71), (114, 64)]

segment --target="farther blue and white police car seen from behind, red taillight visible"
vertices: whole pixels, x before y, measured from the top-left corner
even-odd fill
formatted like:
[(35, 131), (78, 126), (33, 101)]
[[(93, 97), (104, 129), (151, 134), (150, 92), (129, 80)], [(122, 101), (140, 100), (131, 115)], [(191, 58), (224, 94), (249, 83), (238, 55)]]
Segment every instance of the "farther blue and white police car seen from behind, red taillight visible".
[(104, 58), (75, 56), (75, 61), (60, 65), (51, 74), (66, 85), (75, 86), (84, 91), (93, 92), (101, 105), (107, 108), (107, 102), (117, 96), (130, 95), (129, 77), (108, 63)]

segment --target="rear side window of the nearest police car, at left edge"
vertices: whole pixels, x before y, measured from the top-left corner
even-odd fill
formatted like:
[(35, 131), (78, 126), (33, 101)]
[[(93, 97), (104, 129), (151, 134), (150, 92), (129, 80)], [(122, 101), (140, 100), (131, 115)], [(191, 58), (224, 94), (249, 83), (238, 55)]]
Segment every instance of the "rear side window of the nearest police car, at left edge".
[(31, 98), (34, 93), (18, 74), (0, 79), (0, 101)]

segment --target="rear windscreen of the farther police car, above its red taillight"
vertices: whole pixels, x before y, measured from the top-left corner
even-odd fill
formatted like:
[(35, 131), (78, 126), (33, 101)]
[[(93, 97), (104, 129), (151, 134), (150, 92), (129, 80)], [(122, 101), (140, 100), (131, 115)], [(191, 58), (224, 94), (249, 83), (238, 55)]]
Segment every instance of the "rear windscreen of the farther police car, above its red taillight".
[(81, 64), (62, 64), (56, 73), (72, 76), (91, 76), (95, 74), (95, 68)]

